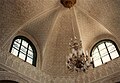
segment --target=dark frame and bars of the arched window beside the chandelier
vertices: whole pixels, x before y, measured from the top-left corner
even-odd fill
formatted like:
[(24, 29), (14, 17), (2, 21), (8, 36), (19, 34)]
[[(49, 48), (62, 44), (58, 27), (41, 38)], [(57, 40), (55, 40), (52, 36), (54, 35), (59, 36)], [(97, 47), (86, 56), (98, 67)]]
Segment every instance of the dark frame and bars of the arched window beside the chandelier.
[[(98, 46), (99, 46), (100, 44), (102, 44), (102, 43), (104, 43), (104, 45), (105, 45), (105, 49), (107, 50), (108, 56), (110, 57), (110, 61), (112, 61), (112, 60), (115, 59), (115, 58), (114, 58), (114, 59), (111, 58), (111, 55), (110, 55), (111, 52), (109, 52), (108, 46), (106, 45), (106, 42), (110, 42), (110, 43), (112, 43), (112, 45), (115, 46), (115, 48), (116, 48), (115, 51), (117, 51), (117, 53), (118, 53), (118, 55), (119, 55), (119, 56), (116, 57), (116, 58), (119, 58), (119, 57), (120, 57), (120, 51), (119, 51), (119, 49), (118, 49), (117, 44), (116, 44), (114, 41), (112, 41), (112, 40), (110, 40), (110, 39), (100, 40), (100, 41), (98, 41), (98, 42), (92, 47), (92, 49), (91, 49), (91, 51), (90, 51), (90, 57), (93, 56), (93, 55), (92, 55), (92, 52), (93, 52), (95, 49), (98, 49), (98, 53), (99, 53), (99, 56), (100, 56), (100, 59), (101, 59), (102, 64), (105, 64), (105, 63), (109, 62), (109, 61), (107, 61), (107, 62), (104, 63), (103, 60), (102, 60), (103, 56), (101, 56), (100, 50), (99, 50), (99, 48), (98, 48)], [(106, 54), (106, 55), (107, 55), (107, 54)], [(91, 63), (93, 64), (93, 68), (95, 68), (93, 58), (92, 58)], [(101, 65), (102, 65), (102, 64), (101, 64)], [(101, 66), (101, 65), (99, 65), (99, 66)], [(96, 67), (98, 67), (98, 66), (96, 66)]]

